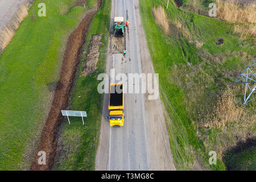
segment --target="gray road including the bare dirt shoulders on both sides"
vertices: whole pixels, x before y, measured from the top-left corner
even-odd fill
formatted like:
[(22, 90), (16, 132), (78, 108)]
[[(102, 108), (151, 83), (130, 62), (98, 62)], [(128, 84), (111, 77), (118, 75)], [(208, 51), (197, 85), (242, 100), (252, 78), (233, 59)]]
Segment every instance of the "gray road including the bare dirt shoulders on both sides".
[[(113, 34), (114, 16), (130, 20), (126, 31), (127, 55), (112, 53), (111, 39), (106, 61), (106, 73), (110, 69), (118, 73), (153, 73), (154, 67), (147, 49), (138, 0), (112, 0), (110, 30)], [(112, 81), (113, 80), (109, 80)], [(128, 80), (128, 85), (129, 85)], [(117, 81), (115, 81), (117, 82)], [(136, 86), (141, 86), (141, 82)], [(121, 128), (110, 128), (107, 119), (109, 94), (105, 94), (100, 143), (97, 148), (96, 170), (175, 170), (164, 107), (160, 98), (148, 100), (146, 94), (125, 94), (125, 123)]]

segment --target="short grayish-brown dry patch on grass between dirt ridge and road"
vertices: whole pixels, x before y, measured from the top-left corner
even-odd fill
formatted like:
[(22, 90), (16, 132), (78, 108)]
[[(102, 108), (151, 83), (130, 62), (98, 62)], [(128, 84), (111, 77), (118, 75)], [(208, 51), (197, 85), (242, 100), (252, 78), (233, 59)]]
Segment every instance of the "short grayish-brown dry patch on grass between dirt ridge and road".
[(98, 56), (100, 56), (100, 46), (101, 46), (101, 34), (94, 35), (92, 40), (90, 40), (88, 53), (84, 62), (84, 68), (82, 70), (82, 76), (90, 75), (97, 69)]

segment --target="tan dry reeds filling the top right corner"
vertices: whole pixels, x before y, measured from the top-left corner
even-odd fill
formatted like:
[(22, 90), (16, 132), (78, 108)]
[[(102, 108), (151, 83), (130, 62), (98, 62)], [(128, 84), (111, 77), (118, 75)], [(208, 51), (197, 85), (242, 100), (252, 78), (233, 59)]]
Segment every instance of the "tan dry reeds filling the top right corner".
[(240, 5), (234, 0), (221, 1), (217, 0), (217, 15), (220, 19), (229, 22), (249, 22), (256, 23), (256, 5), (254, 3)]

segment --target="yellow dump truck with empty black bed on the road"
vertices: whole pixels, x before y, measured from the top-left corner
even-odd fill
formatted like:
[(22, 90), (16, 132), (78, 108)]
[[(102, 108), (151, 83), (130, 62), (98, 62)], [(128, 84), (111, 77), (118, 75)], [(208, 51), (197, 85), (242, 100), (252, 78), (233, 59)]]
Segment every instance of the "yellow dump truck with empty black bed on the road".
[(110, 84), (109, 93), (109, 123), (110, 126), (120, 127), (124, 123), (123, 84)]

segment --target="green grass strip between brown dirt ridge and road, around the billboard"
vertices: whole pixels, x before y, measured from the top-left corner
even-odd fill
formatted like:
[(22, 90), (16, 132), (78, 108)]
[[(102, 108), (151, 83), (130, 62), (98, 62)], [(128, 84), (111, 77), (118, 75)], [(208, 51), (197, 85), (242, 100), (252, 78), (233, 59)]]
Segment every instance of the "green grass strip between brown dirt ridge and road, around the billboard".
[[(82, 126), (81, 118), (71, 118), (71, 125), (67, 119), (61, 126), (59, 147), (56, 155), (56, 170), (94, 170), (96, 150), (100, 137), (101, 111), (103, 95), (97, 92), (97, 75), (105, 71), (105, 60), (108, 53), (109, 24), (111, 1), (102, 1), (101, 9), (94, 16), (86, 34), (84, 51), (88, 49), (93, 35), (102, 34), (100, 57), (97, 71), (89, 76), (82, 76), (82, 65), (85, 55), (81, 57), (79, 71), (75, 86), (72, 90), (72, 98), (69, 108), (72, 110), (85, 110), (88, 117), (84, 118), (85, 126)], [(81, 97), (79, 97), (81, 96)]]

